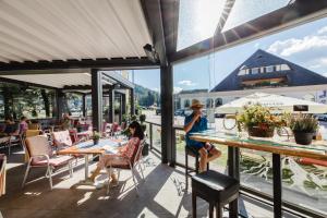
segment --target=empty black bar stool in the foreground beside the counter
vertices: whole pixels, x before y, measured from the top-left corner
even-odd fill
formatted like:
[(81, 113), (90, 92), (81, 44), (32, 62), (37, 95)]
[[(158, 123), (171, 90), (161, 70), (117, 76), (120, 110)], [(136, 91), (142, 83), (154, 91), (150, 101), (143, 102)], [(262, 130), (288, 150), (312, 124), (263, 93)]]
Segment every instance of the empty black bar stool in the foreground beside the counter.
[(196, 218), (196, 197), (201, 197), (209, 203), (209, 218), (214, 217), (216, 206), (216, 217), (222, 218), (223, 205), (238, 201), (240, 181), (208, 170), (192, 177), (192, 214)]

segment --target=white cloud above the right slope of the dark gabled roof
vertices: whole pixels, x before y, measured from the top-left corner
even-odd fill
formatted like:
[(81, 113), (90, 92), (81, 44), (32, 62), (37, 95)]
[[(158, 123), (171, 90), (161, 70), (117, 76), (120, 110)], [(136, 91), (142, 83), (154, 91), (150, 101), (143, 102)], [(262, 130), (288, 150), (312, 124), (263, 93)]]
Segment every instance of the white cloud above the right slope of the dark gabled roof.
[(290, 57), (305, 51), (327, 49), (327, 36), (305, 36), (304, 38), (290, 38), (287, 40), (277, 40), (268, 48), (268, 52), (277, 53), (283, 57)]

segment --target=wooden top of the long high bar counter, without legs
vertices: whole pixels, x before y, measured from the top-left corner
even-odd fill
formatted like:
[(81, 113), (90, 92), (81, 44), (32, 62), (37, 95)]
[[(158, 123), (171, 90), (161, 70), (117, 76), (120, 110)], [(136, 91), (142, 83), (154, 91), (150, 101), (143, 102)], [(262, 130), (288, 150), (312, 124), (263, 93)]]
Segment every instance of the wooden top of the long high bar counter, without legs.
[(293, 138), (287, 137), (240, 137), (233, 133), (207, 130), (192, 133), (191, 140), (209, 142), (232, 147), (249, 148), (279, 155), (307, 157), (327, 161), (327, 141), (313, 141), (311, 145), (299, 145)]

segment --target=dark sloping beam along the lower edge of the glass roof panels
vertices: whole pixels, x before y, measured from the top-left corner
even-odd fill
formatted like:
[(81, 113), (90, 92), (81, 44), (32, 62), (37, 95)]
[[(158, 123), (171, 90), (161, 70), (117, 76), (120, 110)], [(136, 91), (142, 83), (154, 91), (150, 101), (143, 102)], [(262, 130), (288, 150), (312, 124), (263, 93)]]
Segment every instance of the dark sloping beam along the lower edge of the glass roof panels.
[(209, 39), (197, 43), (189, 48), (169, 56), (172, 62), (184, 61), (204, 56), (219, 49), (244, 44), (266, 35), (294, 27), (296, 25), (327, 16), (326, 0), (296, 0), (294, 3), (265, 14), (225, 33), (216, 33)]

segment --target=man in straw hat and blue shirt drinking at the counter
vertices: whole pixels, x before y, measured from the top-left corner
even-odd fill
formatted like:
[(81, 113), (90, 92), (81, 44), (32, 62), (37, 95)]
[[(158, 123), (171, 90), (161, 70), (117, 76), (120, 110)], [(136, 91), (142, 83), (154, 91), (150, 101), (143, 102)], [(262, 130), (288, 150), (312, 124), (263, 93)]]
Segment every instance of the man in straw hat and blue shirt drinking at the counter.
[(191, 148), (194, 153), (199, 154), (199, 172), (206, 171), (207, 162), (220, 157), (221, 155), (220, 150), (218, 150), (214, 145), (190, 138), (191, 133), (201, 132), (208, 129), (208, 121), (202, 114), (202, 108), (203, 105), (197, 99), (193, 99), (191, 105), (193, 112), (192, 114), (185, 117), (184, 120), (186, 146), (189, 146), (189, 148)]

